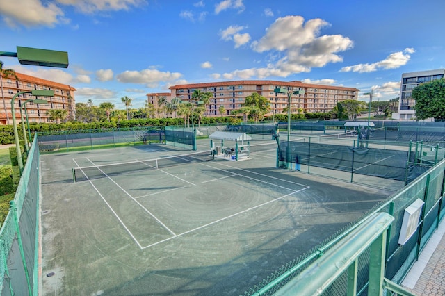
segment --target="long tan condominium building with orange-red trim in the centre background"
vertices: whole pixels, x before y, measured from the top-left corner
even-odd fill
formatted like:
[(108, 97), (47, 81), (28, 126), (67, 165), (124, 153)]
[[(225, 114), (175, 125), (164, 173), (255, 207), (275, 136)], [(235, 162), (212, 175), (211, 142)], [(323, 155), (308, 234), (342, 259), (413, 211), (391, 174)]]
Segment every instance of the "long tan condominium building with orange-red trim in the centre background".
[[(304, 90), (305, 94), (293, 95), (291, 98), (292, 113), (329, 112), (339, 101), (357, 100), (357, 88), (343, 88), (339, 86), (317, 85), (302, 83), (301, 81), (270, 81), (270, 80), (241, 80), (211, 83), (195, 83), (174, 85), (170, 87), (172, 97), (181, 101), (190, 100), (195, 90), (211, 92), (210, 104), (207, 106), (207, 116), (230, 115), (232, 111), (241, 108), (245, 97), (257, 92), (270, 101), (268, 115), (285, 112), (288, 105), (287, 94), (275, 93), (275, 88), (287, 90)], [(224, 108), (220, 108), (223, 106)], [(223, 114), (220, 114), (223, 111)]]

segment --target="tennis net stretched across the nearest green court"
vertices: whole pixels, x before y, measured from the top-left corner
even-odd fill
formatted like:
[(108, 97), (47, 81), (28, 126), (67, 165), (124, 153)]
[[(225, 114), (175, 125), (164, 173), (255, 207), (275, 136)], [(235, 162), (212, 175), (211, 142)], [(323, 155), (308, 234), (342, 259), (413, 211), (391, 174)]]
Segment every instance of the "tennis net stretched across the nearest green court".
[(72, 169), (72, 175), (73, 181), (79, 182), (143, 170), (154, 170), (163, 167), (174, 167), (177, 165), (210, 161), (213, 158), (213, 150), (200, 151), (191, 154), (166, 156), (162, 158), (147, 159), (143, 161), (129, 161), (125, 163), (111, 163), (108, 165), (74, 167)]

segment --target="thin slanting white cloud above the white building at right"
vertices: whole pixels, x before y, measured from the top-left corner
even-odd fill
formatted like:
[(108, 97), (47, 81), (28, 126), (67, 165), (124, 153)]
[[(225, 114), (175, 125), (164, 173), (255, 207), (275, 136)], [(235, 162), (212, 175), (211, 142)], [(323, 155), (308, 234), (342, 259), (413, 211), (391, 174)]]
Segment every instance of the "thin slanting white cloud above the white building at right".
[(406, 65), (408, 61), (410, 61), (411, 56), (410, 54), (413, 54), (415, 51), (412, 48), (406, 48), (403, 51), (398, 51), (393, 54), (390, 54), (385, 58), (385, 60), (380, 60), (379, 62), (375, 62), (372, 64), (358, 64), (353, 66), (347, 66), (342, 67), (340, 69), (340, 72), (359, 72), (359, 73), (366, 73), (366, 72), (375, 72), (378, 71), (378, 69), (397, 69), (399, 67), (402, 67), (403, 65)]

